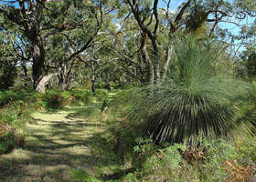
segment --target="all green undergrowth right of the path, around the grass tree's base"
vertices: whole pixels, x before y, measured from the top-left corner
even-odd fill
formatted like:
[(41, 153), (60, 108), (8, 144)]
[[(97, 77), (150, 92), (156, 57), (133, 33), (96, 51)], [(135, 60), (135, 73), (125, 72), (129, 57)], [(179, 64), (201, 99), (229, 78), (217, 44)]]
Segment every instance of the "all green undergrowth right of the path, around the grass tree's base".
[(201, 139), (196, 146), (168, 142), (156, 145), (141, 132), (138, 122), (126, 116), (125, 111), (136, 102), (134, 93), (120, 91), (108, 102), (103, 118), (108, 126), (105, 132), (91, 137), (92, 153), (97, 158), (95, 177), (79, 170), (74, 171), (75, 181), (255, 180), (253, 134)]

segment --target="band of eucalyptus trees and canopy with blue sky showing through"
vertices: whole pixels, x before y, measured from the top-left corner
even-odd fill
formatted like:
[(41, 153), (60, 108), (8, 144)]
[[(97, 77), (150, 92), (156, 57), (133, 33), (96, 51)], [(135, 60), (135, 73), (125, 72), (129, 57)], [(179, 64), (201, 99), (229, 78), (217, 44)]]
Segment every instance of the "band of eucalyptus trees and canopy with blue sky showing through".
[(7, 73), (23, 72), (41, 91), (54, 76), (61, 89), (74, 77), (90, 79), (92, 90), (98, 82), (154, 85), (171, 72), (176, 37), (188, 34), (225, 45), (242, 70), (251, 60), (242, 51), (255, 49), (255, 8), (251, 0), (2, 0), (2, 73), (11, 66)]

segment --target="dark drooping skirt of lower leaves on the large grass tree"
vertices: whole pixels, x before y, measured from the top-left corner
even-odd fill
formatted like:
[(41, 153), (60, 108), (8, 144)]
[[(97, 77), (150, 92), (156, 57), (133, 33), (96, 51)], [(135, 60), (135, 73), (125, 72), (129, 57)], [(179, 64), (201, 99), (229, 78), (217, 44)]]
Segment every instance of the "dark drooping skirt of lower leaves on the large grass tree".
[(155, 111), (146, 122), (147, 131), (156, 142), (190, 144), (198, 137), (227, 136), (235, 126), (234, 112), (229, 107), (211, 106), (204, 98), (188, 96), (182, 103)]

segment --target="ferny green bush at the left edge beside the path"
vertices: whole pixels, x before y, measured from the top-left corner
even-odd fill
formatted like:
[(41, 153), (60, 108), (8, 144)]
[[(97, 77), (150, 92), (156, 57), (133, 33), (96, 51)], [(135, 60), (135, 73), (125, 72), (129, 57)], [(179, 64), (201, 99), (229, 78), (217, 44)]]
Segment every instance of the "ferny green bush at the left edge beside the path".
[(31, 90), (5, 90), (0, 92), (0, 154), (20, 147), (25, 142), (24, 124), (35, 102), (35, 92)]

